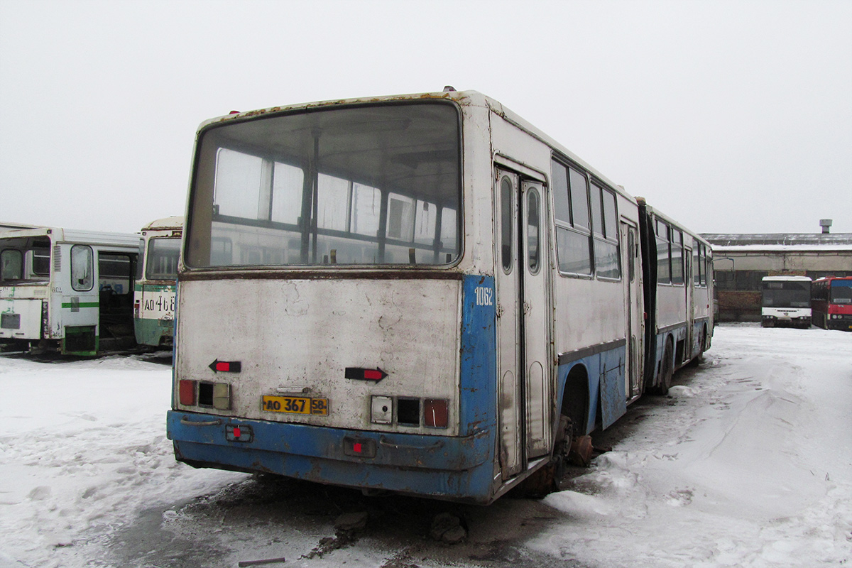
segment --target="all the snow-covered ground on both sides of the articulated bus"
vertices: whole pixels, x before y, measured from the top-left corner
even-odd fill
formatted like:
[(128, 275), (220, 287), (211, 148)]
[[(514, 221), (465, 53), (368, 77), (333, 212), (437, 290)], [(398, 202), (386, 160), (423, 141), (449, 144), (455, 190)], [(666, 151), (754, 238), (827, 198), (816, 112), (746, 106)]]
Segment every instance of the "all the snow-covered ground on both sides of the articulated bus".
[[(174, 461), (170, 377), (129, 357), (0, 358), (0, 568), (107, 566), (99, 550), (141, 510), (164, 508), (162, 524), (180, 531), (187, 500), (246, 486), (243, 474)], [(720, 326), (705, 364), (675, 378), (670, 398), (643, 399), (602, 434), (613, 450), (544, 499), (552, 514), (522, 546), (600, 567), (852, 565), (852, 334)], [(231, 536), (242, 552), (257, 524)], [(310, 550), (320, 529), (298, 546)], [(286, 565), (398, 565), (389, 556), (355, 542)]]

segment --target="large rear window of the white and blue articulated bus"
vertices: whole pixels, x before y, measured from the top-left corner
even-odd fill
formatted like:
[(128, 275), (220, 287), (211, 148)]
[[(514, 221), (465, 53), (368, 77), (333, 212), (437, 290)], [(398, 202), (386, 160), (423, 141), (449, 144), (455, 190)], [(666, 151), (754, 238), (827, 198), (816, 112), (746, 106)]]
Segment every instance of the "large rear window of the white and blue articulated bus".
[(458, 124), (455, 106), (435, 101), (276, 114), (203, 131), (187, 266), (454, 262)]

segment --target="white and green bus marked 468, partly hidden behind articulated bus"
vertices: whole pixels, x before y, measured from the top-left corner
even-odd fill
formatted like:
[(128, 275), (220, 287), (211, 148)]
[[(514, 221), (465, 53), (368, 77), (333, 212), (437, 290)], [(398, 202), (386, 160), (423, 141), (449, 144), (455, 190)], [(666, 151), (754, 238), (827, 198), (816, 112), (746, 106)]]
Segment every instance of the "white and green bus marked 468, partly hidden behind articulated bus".
[(152, 221), (142, 227), (133, 301), (133, 324), (139, 345), (172, 346), (182, 227), (180, 216)]

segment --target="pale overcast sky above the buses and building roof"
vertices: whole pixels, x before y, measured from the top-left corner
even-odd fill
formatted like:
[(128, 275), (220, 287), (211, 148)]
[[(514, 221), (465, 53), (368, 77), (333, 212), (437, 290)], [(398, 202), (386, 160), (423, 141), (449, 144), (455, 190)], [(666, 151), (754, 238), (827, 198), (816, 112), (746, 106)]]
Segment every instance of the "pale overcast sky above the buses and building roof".
[(852, 2), (0, 0), (0, 221), (182, 215), (199, 123), (474, 89), (698, 232), (852, 232)]

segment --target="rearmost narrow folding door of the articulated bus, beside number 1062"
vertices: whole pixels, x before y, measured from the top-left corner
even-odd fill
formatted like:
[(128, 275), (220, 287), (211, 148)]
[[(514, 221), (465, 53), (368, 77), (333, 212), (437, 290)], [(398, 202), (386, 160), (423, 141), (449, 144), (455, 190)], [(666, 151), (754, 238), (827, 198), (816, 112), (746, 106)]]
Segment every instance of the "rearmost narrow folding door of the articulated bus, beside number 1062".
[(549, 255), (544, 186), (497, 170), (498, 417), (503, 479), (551, 445)]

